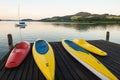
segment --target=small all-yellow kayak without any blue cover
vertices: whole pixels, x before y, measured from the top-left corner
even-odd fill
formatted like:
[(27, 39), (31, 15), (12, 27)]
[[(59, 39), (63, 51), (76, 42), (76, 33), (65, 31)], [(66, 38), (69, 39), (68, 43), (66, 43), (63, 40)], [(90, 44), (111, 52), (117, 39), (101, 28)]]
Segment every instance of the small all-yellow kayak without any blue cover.
[(93, 46), (92, 44), (88, 43), (86, 40), (84, 39), (80, 39), (80, 40), (73, 40), (74, 43), (78, 44), (80, 47), (94, 53), (100, 56), (107, 56), (107, 53), (102, 51), (101, 49)]

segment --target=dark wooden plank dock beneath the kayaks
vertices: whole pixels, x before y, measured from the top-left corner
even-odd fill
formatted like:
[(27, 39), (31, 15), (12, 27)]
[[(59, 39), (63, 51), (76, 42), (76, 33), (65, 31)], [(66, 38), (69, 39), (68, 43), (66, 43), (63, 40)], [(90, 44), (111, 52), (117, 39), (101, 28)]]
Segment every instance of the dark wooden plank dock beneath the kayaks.
[[(120, 44), (104, 40), (89, 41), (91, 44), (106, 51), (108, 56), (101, 57), (93, 54), (100, 60), (118, 79), (120, 79)], [(76, 61), (62, 46), (61, 42), (50, 42), (55, 53), (56, 69), (55, 80), (100, 80), (82, 64)], [(31, 44), (31, 48), (32, 48)], [(36, 66), (32, 49), (24, 62), (17, 68), (6, 69), (5, 63), (9, 53), (0, 60), (0, 80), (45, 80)]]

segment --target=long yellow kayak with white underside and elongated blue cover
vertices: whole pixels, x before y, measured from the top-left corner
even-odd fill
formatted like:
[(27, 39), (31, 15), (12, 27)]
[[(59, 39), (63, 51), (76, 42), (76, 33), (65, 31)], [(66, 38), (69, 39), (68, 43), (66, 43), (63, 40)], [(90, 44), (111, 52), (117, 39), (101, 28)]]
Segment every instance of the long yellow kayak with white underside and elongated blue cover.
[(98, 76), (101, 80), (118, 80), (100, 61), (85, 49), (70, 40), (62, 40), (63, 47), (82, 65)]

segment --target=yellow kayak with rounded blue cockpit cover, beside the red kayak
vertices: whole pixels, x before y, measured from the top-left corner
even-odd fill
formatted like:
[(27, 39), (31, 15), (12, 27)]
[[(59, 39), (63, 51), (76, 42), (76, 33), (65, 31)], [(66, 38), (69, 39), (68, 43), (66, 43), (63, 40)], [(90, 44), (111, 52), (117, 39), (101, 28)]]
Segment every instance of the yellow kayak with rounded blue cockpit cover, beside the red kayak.
[(47, 80), (54, 80), (55, 58), (52, 47), (45, 41), (38, 39), (32, 47), (33, 58)]

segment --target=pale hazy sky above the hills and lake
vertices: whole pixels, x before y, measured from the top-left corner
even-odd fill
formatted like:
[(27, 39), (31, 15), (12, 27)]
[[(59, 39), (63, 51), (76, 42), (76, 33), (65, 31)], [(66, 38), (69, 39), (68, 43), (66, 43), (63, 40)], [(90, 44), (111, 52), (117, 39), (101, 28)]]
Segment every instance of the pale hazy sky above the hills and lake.
[(41, 19), (78, 12), (120, 15), (120, 0), (0, 0), (0, 19)]

